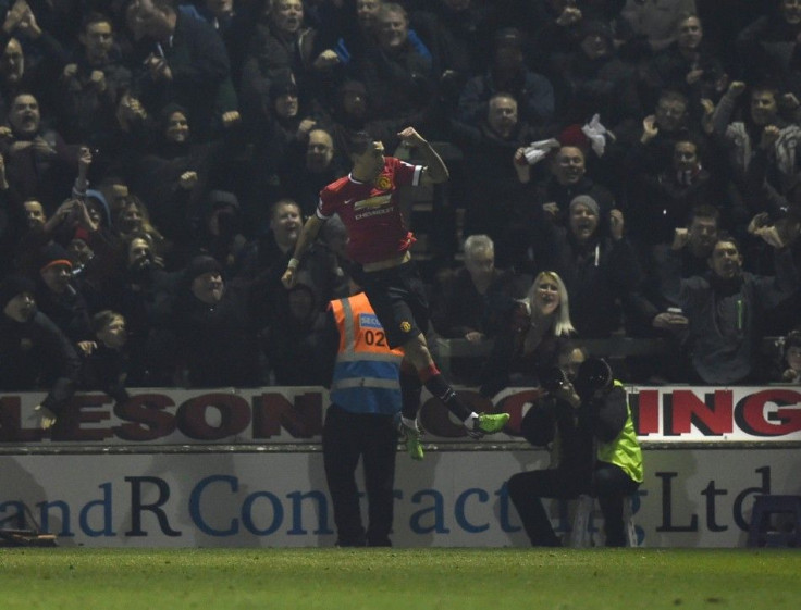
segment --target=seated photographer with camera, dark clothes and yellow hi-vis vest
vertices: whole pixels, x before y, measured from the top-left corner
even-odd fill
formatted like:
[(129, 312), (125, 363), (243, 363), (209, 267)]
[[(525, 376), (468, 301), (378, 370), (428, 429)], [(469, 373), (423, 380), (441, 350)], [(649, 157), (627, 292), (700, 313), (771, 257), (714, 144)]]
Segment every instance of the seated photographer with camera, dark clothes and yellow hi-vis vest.
[(562, 546), (541, 498), (581, 494), (599, 499), (606, 546), (626, 546), (624, 499), (640, 486), (643, 470), (623, 384), (604, 360), (588, 359), (574, 345), (559, 353), (558, 368), (543, 375), (542, 389), (520, 427), (532, 445), (551, 445), (551, 466), (518, 473), (507, 484), (532, 546)]

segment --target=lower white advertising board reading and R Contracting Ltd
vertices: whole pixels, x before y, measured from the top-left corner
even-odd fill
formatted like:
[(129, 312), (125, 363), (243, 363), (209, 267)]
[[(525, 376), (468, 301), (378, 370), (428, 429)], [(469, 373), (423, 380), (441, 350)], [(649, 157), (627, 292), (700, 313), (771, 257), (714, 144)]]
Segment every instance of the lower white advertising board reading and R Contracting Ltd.
[[(422, 462), (398, 452), (394, 544), (526, 546), (504, 484), (546, 460), (532, 450), (429, 451)], [(16, 527), (25, 503), (62, 546), (335, 541), (317, 451), (17, 455), (0, 463), (0, 528)], [(801, 494), (798, 450), (648, 450), (645, 469), (634, 521), (648, 547), (743, 546), (756, 494)], [(568, 507), (550, 503), (566, 532)]]

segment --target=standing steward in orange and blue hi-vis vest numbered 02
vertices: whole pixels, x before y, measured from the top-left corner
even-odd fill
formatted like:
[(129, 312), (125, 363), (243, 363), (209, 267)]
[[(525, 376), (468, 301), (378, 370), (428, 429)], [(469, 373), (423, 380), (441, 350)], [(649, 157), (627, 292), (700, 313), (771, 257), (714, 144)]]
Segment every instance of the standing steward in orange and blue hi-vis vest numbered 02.
[[(336, 524), (336, 545), (392, 546), (401, 360), (363, 292), (331, 301), (340, 334), (331, 406), (322, 433), (323, 462)], [(356, 487), (362, 460), (369, 523), (365, 530)]]

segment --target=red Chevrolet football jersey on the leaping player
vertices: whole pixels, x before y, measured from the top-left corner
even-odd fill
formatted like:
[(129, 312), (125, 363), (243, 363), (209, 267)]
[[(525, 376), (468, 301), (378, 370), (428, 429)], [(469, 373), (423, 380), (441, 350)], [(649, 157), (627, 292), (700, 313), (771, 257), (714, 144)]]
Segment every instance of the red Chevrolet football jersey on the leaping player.
[(350, 175), (320, 191), (317, 216), (340, 214), (347, 227), (348, 257), (360, 264), (384, 261), (404, 253), (415, 238), (406, 227), (397, 189), (417, 186), (422, 165), (411, 165), (394, 157), (384, 158), (384, 169), (372, 183), (360, 183)]

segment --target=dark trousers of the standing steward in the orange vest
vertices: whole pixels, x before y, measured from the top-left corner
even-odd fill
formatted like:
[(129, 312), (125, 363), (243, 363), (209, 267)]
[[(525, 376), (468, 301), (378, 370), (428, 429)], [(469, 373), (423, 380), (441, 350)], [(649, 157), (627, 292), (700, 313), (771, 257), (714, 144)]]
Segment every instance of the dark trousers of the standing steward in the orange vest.
[[(322, 431), (325, 480), (334, 505), (338, 546), (392, 546), (397, 428), (391, 415), (329, 407)], [(362, 459), (368, 527), (361, 523), (356, 466)]]

